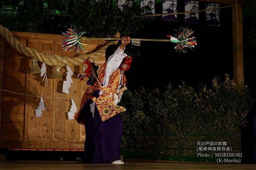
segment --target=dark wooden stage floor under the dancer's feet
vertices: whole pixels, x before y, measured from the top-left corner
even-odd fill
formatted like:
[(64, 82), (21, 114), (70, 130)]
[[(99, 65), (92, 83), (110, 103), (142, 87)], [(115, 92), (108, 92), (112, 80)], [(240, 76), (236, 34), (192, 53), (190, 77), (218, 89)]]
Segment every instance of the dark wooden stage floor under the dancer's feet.
[(194, 163), (194, 162), (124, 162), (124, 165), (113, 164), (80, 164), (71, 161), (7, 161), (0, 163), (0, 170), (250, 170), (256, 164), (239, 163)]

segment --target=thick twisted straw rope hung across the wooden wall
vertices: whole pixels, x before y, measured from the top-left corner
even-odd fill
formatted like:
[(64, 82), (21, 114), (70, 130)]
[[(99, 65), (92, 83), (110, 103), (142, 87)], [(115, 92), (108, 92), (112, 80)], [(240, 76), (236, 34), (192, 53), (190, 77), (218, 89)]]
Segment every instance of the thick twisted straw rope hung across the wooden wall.
[[(47, 65), (50, 66), (73, 66), (73, 65), (81, 65), (82, 62), (84, 62), (85, 59), (90, 57), (92, 60), (96, 60), (99, 58), (99, 56), (104, 56), (106, 48), (111, 44), (117, 44), (117, 41), (114, 42), (107, 42), (103, 47), (101, 47), (99, 50), (89, 53), (89, 54), (80, 54), (78, 57), (67, 57), (67, 56), (58, 56), (58, 55), (49, 55), (40, 53), (39, 51), (30, 48), (25, 47), (22, 45), (16, 37), (12, 35), (12, 33), (6, 28), (0, 25), (0, 34), (6, 38), (6, 40), (11, 44), (13, 48), (15, 48), (18, 52), (25, 54), (28, 57), (31, 58), (37, 58), (41, 62), (45, 62)], [(115, 37), (120, 37), (120, 33), (116, 33)]]

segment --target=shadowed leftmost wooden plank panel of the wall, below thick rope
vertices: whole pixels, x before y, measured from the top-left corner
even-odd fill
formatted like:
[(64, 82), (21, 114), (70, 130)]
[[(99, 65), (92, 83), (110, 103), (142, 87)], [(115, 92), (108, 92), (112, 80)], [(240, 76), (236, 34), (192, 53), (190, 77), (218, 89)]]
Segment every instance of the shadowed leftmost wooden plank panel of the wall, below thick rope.
[[(26, 93), (27, 57), (12, 48), (5, 41), (4, 66), (3, 66), (3, 89)], [(19, 39), (26, 46), (26, 40)], [(2, 98), (2, 124), (1, 141), (22, 141), (24, 138), (24, 110), (26, 96), (3, 92)]]

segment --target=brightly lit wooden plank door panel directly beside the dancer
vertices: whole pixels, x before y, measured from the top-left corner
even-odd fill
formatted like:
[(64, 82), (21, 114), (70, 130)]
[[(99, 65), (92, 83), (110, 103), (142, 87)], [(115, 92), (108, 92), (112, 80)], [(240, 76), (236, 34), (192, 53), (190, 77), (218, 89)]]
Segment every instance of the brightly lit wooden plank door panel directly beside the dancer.
[[(76, 54), (65, 52), (61, 47), (61, 42), (55, 42), (55, 55), (73, 57)], [(79, 98), (80, 97), (80, 81), (77, 79), (79, 66), (70, 66), (74, 75), (72, 76), (73, 83), (69, 88), (68, 93), (62, 93), (63, 81), (66, 80), (66, 66), (61, 67), (63, 79), (54, 79), (53, 82), (53, 97), (58, 98)], [(77, 108), (79, 108), (79, 100), (74, 100)], [(81, 134), (81, 126), (75, 119), (68, 120), (68, 111), (71, 107), (71, 100), (53, 99), (53, 141), (79, 141)]]

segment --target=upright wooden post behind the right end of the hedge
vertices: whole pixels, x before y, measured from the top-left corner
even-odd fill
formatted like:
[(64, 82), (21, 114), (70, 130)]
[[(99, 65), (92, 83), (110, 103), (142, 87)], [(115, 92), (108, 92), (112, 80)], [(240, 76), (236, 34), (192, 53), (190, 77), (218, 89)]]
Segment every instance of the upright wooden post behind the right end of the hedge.
[(232, 7), (233, 22), (233, 64), (234, 80), (238, 85), (244, 80), (244, 55), (243, 55), (243, 22), (242, 5), (236, 4)]

